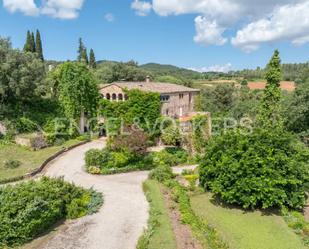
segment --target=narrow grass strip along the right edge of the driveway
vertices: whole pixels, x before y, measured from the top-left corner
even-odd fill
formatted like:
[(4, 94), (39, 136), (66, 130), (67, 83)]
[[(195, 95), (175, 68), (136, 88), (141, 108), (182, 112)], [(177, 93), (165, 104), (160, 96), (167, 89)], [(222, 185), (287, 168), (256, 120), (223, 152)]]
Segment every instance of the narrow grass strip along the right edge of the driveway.
[(141, 237), (137, 248), (176, 249), (176, 240), (160, 184), (148, 180), (144, 183), (144, 191), (150, 203), (149, 230)]

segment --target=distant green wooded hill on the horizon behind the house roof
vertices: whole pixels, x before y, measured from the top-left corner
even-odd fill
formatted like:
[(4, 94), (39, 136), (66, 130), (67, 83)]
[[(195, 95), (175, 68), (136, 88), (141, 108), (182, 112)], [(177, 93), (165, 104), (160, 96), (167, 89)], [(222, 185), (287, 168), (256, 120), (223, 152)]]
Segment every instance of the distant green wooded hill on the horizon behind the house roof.
[(139, 67), (157, 76), (170, 75), (174, 77), (180, 77), (180, 78), (191, 79), (191, 80), (202, 78), (202, 74), (199, 72), (192, 71), (192, 70), (185, 69), (185, 68), (176, 67), (173, 65), (148, 63), (148, 64), (141, 65)]

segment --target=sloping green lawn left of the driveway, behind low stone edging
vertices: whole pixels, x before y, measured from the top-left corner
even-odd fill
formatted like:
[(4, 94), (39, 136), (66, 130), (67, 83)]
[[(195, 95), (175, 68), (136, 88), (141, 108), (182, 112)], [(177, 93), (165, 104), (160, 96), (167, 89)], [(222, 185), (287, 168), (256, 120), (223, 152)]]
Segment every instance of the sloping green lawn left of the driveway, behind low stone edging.
[[(69, 140), (61, 146), (53, 146), (38, 151), (32, 151), (16, 144), (0, 144), (0, 180), (25, 175), (38, 168), (48, 157), (60, 151), (63, 147), (69, 147), (80, 142), (79, 140)], [(16, 169), (7, 169), (4, 167), (4, 162), (9, 159), (18, 160), (22, 164)]]

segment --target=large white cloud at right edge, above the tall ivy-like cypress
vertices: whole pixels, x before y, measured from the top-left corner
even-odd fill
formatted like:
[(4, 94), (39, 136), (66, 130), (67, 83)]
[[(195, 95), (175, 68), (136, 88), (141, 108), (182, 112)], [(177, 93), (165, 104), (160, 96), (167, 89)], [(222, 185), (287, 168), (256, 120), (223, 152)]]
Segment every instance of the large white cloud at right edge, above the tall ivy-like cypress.
[(289, 40), (295, 45), (309, 42), (308, 1), (281, 6), (268, 18), (249, 23), (232, 38), (232, 44), (250, 52), (262, 43), (280, 40)]

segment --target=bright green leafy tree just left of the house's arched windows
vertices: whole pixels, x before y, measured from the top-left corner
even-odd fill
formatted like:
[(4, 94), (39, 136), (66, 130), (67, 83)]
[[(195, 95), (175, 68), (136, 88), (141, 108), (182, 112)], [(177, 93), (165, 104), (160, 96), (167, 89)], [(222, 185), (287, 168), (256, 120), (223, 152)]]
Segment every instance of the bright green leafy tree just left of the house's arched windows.
[(99, 93), (97, 84), (87, 66), (66, 62), (52, 72), (57, 95), (67, 117), (80, 118), (81, 111), (94, 117)]

